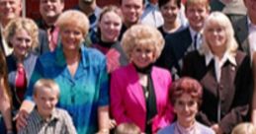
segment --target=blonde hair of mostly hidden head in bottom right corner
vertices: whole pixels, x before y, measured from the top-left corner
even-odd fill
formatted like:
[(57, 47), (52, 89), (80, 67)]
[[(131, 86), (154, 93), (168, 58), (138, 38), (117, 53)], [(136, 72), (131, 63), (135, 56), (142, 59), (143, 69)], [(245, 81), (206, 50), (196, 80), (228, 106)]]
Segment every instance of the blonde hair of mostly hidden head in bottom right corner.
[(256, 128), (252, 123), (244, 122), (236, 125), (231, 134), (256, 134)]

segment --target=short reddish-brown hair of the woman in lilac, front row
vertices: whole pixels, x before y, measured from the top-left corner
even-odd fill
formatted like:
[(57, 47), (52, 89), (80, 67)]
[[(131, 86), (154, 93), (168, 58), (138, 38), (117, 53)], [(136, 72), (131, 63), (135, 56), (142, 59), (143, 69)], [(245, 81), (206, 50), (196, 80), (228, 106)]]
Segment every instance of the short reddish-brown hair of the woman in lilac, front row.
[(170, 90), (169, 99), (174, 104), (175, 101), (183, 94), (189, 94), (193, 99), (196, 99), (198, 105), (202, 103), (203, 88), (201, 84), (190, 77), (183, 77), (175, 81)]

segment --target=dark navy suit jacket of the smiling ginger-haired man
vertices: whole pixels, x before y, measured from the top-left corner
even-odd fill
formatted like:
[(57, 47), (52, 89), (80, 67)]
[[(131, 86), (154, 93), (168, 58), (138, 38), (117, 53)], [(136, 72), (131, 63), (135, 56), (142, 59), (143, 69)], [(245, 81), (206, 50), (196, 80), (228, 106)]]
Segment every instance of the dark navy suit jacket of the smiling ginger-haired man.
[(189, 51), (192, 37), (189, 28), (178, 33), (167, 34), (162, 54), (156, 65), (168, 69), (173, 77), (180, 76), (182, 59)]

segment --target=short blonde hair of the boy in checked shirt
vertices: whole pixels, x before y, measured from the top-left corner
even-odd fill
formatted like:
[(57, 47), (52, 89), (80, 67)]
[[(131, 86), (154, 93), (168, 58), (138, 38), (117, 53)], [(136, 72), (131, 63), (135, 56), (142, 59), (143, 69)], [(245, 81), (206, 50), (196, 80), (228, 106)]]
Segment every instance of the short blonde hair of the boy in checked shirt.
[(57, 94), (57, 98), (59, 97), (59, 87), (58, 85), (51, 79), (40, 79), (36, 82), (34, 86), (34, 96), (37, 96), (38, 91), (43, 88), (50, 89)]

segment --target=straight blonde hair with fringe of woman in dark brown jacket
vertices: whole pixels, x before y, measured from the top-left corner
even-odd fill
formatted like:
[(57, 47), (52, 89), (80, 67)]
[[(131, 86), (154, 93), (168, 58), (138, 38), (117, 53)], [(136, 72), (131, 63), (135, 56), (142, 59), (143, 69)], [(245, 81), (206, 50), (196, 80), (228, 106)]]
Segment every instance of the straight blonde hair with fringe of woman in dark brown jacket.
[(219, 25), (224, 30), (224, 33), (226, 35), (226, 52), (229, 52), (230, 54), (235, 54), (238, 48), (238, 44), (234, 38), (234, 31), (229, 19), (221, 12), (213, 12), (207, 18), (203, 32), (203, 45), (200, 52), (202, 54), (206, 54), (212, 51), (205, 34), (208, 33), (208, 29), (212, 27), (213, 23), (217, 23), (217, 25)]

